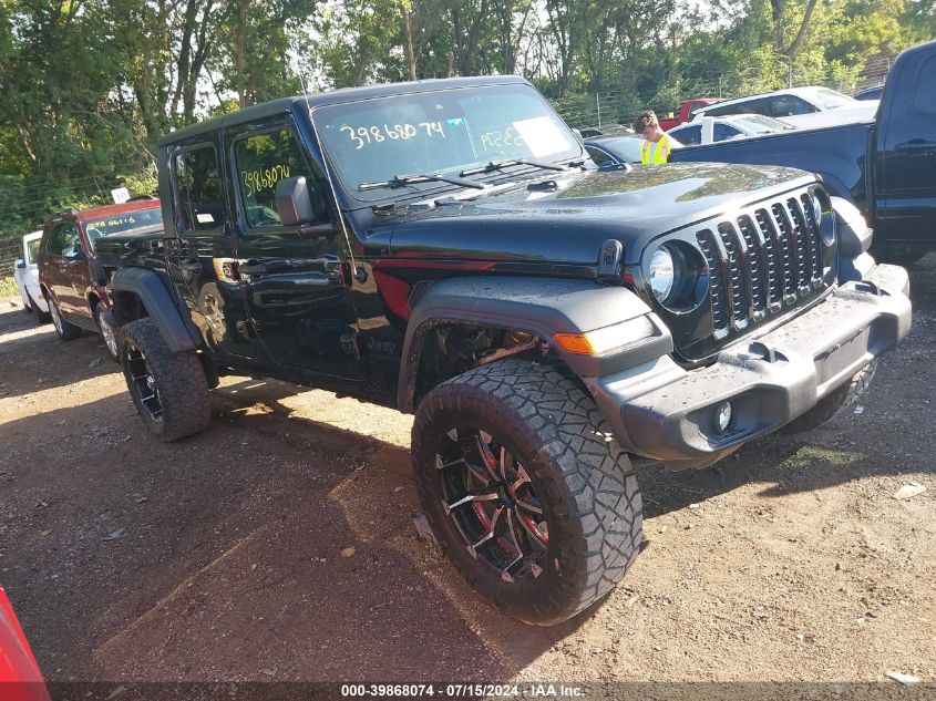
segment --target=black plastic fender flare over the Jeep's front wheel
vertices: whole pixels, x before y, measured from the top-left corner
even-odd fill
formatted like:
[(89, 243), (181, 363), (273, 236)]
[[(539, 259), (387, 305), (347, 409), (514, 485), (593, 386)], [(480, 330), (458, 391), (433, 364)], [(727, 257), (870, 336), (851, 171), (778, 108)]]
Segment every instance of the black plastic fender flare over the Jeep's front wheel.
[(568, 353), (554, 346), (582, 378), (618, 372), (672, 352), (672, 337), (650, 307), (624, 286), (595, 280), (535, 277), (470, 277), (433, 282), (412, 310), (400, 363), (397, 404), (411, 412), (426, 333), (443, 323), (476, 323), (525, 331), (552, 341), (556, 333), (586, 333), (647, 317), (652, 333), (604, 355)]

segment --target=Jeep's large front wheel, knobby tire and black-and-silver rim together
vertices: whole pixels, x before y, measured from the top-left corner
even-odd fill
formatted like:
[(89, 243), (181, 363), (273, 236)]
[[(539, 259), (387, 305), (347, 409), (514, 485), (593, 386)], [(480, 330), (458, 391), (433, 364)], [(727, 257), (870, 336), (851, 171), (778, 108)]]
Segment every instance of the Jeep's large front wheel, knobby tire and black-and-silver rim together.
[(508, 616), (567, 620), (637, 557), (642, 507), (630, 461), (564, 369), (502, 360), (469, 370), (422, 399), (412, 436), (429, 525)]

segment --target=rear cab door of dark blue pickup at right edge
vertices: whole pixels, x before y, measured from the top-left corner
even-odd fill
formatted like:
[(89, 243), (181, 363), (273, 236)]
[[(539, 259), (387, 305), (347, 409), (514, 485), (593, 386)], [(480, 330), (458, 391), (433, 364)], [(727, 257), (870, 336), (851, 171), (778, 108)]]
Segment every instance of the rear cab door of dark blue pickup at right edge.
[(881, 237), (932, 239), (936, 231), (936, 55), (905, 65), (887, 91), (875, 187)]

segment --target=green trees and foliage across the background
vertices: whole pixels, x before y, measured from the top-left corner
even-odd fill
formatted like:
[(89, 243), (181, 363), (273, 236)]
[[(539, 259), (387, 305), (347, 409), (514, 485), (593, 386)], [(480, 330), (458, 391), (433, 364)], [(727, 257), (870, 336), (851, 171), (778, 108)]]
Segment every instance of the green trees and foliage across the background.
[(299, 74), (521, 73), (589, 126), (791, 78), (850, 91), (934, 34), (936, 0), (0, 0), (0, 230), (155, 193), (160, 136)]

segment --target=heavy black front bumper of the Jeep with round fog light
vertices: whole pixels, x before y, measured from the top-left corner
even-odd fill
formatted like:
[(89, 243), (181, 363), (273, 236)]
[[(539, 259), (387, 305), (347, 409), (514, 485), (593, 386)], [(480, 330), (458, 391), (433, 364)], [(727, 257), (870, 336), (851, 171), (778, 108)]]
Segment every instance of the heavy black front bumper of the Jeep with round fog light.
[[(906, 270), (881, 265), (809, 311), (722, 350), (706, 368), (669, 357), (590, 389), (625, 450), (675, 468), (703, 466), (815, 406), (909, 332)], [(717, 409), (732, 404), (724, 432)]]

